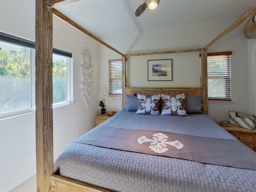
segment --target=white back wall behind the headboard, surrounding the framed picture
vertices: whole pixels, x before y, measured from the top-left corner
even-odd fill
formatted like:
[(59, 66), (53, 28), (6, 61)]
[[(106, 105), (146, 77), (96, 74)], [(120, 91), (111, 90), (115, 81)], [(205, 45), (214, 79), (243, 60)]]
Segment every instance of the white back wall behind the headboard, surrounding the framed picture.
[[(140, 34), (132, 48), (129, 47), (128, 49), (125, 49), (125, 44), (118, 44), (118, 46), (122, 46), (122, 50), (128, 51), (125, 54), (202, 48), (230, 26), (234, 20), (224, 20), (193, 26), (170, 28), (167, 30), (144, 32)], [(228, 120), (229, 110), (238, 110), (241, 112), (249, 111), (247, 40), (244, 37), (243, 28), (244, 24), (218, 40), (208, 49), (208, 52), (233, 52), (231, 58), (232, 102), (209, 102), (209, 115), (217, 122)], [(116, 39), (116, 44), (117, 42), (118, 39)], [(128, 86), (200, 86), (200, 64), (198, 54), (199, 52), (130, 57), (128, 58)], [(100, 46), (100, 86), (104, 87), (107, 91), (108, 60), (118, 58), (121, 58), (118, 54), (111, 54), (111, 51)], [(173, 59), (173, 81), (147, 81), (147, 61), (153, 59)], [(252, 77), (255, 77), (255, 70)], [(111, 106), (111, 110), (121, 110), (121, 100), (121, 98), (109, 98), (108, 106)]]

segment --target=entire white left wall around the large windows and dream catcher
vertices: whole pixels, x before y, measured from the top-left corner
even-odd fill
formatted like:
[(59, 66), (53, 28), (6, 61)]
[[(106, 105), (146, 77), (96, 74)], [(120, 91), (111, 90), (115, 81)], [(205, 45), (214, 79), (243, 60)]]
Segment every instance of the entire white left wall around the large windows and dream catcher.
[[(0, 31), (34, 41), (35, 0), (1, 1)], [(87, 43), (87, 44), (86, 44)], [(74, 103), (53, 109), (54, 159), (72, 140), (95, 126), (100, 112), (99, 45), (75, 28), (53, 18), (54, 47), (73, 52)], [(80, 54), (90, 49), (94, 65), (94, 86), (89, 108), (80, 88)], [(0, 120), (0, 192), (8, 192), (36, 174), (35, 113)]]

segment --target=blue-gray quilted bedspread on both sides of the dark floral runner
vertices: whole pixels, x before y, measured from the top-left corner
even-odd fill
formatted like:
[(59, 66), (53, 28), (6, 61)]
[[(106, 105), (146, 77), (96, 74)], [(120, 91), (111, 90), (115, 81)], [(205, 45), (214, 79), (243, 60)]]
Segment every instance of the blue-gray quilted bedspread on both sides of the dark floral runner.
[[(101, 125), (236, 140), (205, 114), (180, 117), (120, 111)], [(58, 157), (54, 172), (120, 192), (256, 191), (256, 171), (75, 142)]]

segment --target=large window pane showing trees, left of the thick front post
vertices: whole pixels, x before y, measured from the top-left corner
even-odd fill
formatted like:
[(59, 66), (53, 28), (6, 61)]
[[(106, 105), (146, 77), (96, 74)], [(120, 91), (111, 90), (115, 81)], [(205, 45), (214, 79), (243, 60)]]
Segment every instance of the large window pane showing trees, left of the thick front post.
[(30, 48), (0, 41), (0, 114), (34, 108), (32, 55)]

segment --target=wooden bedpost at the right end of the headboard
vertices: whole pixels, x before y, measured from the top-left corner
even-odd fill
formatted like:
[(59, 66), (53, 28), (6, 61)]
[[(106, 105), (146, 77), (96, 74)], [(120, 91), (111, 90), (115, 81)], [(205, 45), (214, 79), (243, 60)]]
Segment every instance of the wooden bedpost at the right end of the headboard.
[(207, 49), (201, 50), (201, 87), (203, 88), (203, 108), (204, 112), (208, 114), (208, 78), (207, 78)]

